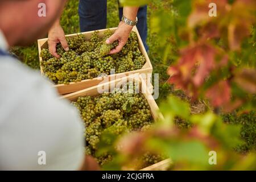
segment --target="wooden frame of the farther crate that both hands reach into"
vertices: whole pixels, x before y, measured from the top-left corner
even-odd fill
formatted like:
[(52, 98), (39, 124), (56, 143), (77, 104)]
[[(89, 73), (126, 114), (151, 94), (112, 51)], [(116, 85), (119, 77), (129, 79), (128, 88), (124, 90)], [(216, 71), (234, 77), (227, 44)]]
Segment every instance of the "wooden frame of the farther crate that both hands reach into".
[[(106, 30), (108, 30), (108, 29), (99, 30), (98, 35), (100, 37), (102, 37)], [(115, 30), (117, 30), (117, 28), (110, 28), (110, 30), (115, 31)], [(143, 56), (145, 57), (146, 63), (144, 64), (142, 69), (137, 69), (134, 71), (109, 75), (108, 77), (106, 77), (106, 79), (108, 79), (109, 81), (114, 80), (115, 78), (125, 77), (130, 74), (134, 74), (134, 73), (150, 73), (150, 74), (152, 74), (152, 65), (150, 63), (150, 59), (147, 55), (146, 49), (144, 48), (144, 45), (143, 45), (141, 36), (139, 35), (137, 27), (134, 26), (133, 31), (136, 32), (136, 34), (138, 36), (139, 50), (142, 52)], [(93, 34), (93, 32), (94, 31), (82, 32), (81, 34), (85, 36), (86, 40), (89, 40), (91, 35)], [(77, 34), (66, 35), (67, 38), (72, 38), (74, 36), (77, 36)], [(43, 48), (48, 48), (48, 39), (47, 38), (38, 40), (38, 51), (39, 51), (40, 63), (42, 62), (42, 57), (40, 56), (40, 52)], [(40, 71), (41, 71), (41, 74), (44, 75), (42, 67), (40, 67)], [(68, 93), (72, 93), (72, 92), (77, 92), (81, 89), (86, 89), (86, 88), (90, 88), (92, 86), (98, 85), (102, 82), (102, 80), (103, 80), (102, 77), (97, 77), (97, 78), (93, 78), (93, 79), (82, 80), (80, 82), (71, 82), (69, 85), (57, 84), (57, 85), (53, 85), (53, 87), (55, 87), (58, 90), (59, 94), (68, 94)]]

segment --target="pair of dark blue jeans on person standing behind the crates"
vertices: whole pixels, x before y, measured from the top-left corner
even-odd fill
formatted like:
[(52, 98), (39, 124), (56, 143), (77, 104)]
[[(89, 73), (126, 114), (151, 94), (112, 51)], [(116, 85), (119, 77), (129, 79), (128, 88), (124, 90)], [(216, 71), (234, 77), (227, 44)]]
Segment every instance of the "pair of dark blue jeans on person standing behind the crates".
[[(79, 17), (81, 32), (106, 28), (107, 0), (80, 0)], [(119, 8), (119, 19), (122, 19), (123, 9)], [(139, 8), (137, 28), (146, 51), (147, 39), (147, 6)]]

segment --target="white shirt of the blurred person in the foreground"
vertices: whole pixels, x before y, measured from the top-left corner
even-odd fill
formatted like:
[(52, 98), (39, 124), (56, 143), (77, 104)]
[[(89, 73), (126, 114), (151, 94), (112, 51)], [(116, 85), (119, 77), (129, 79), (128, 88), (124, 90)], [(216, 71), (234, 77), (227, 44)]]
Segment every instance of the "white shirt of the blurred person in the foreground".
[[(7, 49), (1, 31), (0, 49)], [(0, 56), (0, 170), (79, 169), (83, 132), (78, 111), (40, 73)]]

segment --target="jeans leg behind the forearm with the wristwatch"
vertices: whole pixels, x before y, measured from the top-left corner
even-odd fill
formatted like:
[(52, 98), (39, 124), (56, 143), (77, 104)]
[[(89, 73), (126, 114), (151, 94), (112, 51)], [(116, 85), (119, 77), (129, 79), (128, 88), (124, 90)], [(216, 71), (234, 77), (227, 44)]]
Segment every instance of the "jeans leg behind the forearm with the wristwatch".
[[(123, 9), (119, 8), (119, 19), (120, 20), (122, 19), (122, 16), (123, 16)], [(141, 39), (144, 44), (144, 47), (146, 48), (146, 51), (148, 51), (148, 46), (146, 43), (146, 40), (147, 40), (147, 6), (140, 7), (137, 16), (138, 16), (137, 28), (139, 31), (139, 35), (141, 35)]]

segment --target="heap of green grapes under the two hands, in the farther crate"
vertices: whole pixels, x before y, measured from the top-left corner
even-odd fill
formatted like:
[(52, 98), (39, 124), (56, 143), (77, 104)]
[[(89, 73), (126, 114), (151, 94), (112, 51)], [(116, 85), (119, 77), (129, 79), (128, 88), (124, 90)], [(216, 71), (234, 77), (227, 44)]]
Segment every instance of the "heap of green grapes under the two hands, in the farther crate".
[(42, 49), (40, 56), (43, 59), (41, 67), (44, 75), (55, 84), (69, 84), (92, 79), (101, 74), (110, 75), (112, 69), (115, 73), (122, 73), (143, 67), (146, 60), (139, 51), (135, 32), (131, 32), (122, 51), (114, 55), (109, 55), (109, 52), (118, 46), (118, 41), (105, 43), (113, 32), (105, 31), (102, 38), (98, 33), (93, 32), (90, 40), (85, 40), (82, 34), (67, 38), (69, 51), (65, 51), (58, 44), (57, 53), (60, 59), (53, 57), (48, 49)]

